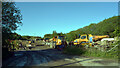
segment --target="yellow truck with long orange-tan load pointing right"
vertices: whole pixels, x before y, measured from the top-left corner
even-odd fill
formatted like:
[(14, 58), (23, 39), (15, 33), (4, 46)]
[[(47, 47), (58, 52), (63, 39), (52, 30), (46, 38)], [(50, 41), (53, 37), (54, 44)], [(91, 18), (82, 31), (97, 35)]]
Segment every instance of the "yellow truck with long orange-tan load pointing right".
[(101, 40), (103, 38), (108, 38), (108, 35), (102, 35), (102, 36), (96, 36), (92, 34), (83, 34), (80, 36), (79, 39), (74, 40), (74, 45), (89, 45), (93, 46), (93, 42), (96, 42), (98, 40)]

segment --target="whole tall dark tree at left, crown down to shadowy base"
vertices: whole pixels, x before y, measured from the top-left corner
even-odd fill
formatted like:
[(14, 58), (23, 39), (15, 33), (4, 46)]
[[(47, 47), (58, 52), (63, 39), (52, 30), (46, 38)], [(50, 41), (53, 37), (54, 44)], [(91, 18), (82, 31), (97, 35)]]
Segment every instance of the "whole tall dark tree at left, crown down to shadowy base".
[[(11, 47), (8, 39), (12, 38), (12, 33), (20, 25), (22, 25), (22, 15), (14, 2), (2, 2), (2, 54), (3, 59), (13, 55), (8, 51), (7, 47)], [(10, 45), (10, 46), (8, 46)]]

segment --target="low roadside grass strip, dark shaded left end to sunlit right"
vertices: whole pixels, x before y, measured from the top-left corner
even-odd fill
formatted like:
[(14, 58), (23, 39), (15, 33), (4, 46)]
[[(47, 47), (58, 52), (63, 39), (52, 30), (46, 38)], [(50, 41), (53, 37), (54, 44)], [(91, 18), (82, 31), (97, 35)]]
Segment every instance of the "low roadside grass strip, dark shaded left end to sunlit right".
[(106, 51), (100, 51), (93, 47), (84, 49), (84, 47), (69, 46), (64, 49), (63, 53), (70, 54), (70, 55), (82, 55), (82, 56), (87, 56), (87, 57), (118, 59), (118, 48), (117, 47), (111, 50), (110, 52), (106, 52)]

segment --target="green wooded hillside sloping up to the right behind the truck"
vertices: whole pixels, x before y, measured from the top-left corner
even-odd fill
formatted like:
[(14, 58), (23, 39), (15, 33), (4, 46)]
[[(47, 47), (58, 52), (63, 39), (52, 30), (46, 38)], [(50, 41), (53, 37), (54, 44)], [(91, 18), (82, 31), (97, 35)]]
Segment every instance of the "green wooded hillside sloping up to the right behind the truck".
[(88, 26), (80, 28), (75, 31), (67, 33), (67, 41), (73, 41), (79, 34), (93, 34), (93, 35), (109, 35), (110, 37), (120, 36), (120, 23), (118, 23), (119, 16), (113, 16), (111, 18), (105, 19), (99, 23), (91, 23)]

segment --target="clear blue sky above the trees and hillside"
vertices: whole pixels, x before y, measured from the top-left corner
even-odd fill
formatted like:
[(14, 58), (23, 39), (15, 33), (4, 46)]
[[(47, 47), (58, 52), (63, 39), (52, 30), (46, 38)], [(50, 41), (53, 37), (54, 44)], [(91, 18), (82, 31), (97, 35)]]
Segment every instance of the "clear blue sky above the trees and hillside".
[(16, 2), (23, 15), (20, 35), (68, 33), (118, 15), (117, 2)]

